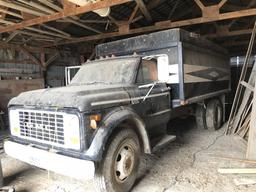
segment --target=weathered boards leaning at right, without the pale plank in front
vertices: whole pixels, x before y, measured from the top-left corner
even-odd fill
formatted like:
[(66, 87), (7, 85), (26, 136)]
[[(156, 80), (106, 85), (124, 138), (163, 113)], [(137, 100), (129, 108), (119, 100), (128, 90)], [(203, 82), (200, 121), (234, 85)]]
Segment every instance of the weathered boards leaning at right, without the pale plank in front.
[(244, 65), (238, 82), (227, 129), (228, 134), (238, 134), (243, 138), (248, 137), (251, 120), (251, 110), (253, 105), (253, 92), (256, 80), (256, 65), (254, 65), (253, 63), (251, 72), (248, 69), (255, 36), (256, 22), (254, 24), (250, 43), (244, 60)]

